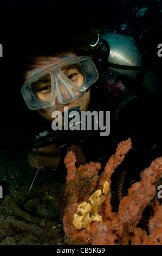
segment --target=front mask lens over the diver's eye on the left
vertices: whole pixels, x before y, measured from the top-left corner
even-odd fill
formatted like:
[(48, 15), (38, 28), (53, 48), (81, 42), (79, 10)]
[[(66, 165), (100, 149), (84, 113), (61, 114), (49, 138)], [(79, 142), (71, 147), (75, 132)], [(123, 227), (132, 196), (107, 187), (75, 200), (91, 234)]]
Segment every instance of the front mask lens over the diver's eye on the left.
[(51, 96), (51, 76), (43, 75), (37, 81), (30, 84), (31, 90), (37, 100), (50, 101)]

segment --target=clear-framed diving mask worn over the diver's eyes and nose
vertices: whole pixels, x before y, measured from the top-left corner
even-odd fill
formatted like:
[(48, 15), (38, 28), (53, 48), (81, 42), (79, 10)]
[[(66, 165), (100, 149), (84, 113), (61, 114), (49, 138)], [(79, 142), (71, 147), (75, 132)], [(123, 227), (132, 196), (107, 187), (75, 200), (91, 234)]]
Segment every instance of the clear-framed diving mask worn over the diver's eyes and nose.
[(90, 57), (67, 57), (31, 76), (23, 84), (21, 92), (28, 108), (55, 111), (85, 96), (98, 78), (98, 70)]

